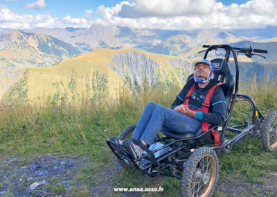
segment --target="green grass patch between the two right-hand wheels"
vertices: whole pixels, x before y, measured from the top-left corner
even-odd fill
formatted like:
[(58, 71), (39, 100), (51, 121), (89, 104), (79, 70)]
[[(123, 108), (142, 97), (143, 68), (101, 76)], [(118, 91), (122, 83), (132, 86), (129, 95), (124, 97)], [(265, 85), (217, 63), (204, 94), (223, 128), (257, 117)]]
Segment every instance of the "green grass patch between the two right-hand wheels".
[(245, 137), (235, 144), (231, 153), (220, 155), (221, 175), (244, 175), (251, 182), (262, 182), (259, 178), (266, 171), (276, 171), (277, 153), (262, 150), (260, 138)]

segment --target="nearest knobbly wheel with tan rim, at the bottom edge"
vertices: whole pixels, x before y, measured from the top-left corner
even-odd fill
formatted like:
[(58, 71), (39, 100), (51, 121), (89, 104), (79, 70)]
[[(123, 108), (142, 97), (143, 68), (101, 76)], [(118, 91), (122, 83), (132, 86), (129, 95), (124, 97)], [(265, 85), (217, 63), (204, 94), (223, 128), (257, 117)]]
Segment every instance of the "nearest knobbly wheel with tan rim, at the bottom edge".
[(184, 164), (181, 196), (211, 196), (217, 185), (220, 164), (209, 147), (200, 147)]

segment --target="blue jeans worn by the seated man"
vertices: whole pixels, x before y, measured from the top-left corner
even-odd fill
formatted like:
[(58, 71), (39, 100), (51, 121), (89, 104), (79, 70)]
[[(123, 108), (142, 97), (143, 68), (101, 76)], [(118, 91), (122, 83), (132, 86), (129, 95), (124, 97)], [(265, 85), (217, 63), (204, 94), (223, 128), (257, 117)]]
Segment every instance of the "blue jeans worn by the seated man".
[(145, 105), (132, 137), (153, 144), (160, 130), (195, 132), (202, 121), (154, 102)]

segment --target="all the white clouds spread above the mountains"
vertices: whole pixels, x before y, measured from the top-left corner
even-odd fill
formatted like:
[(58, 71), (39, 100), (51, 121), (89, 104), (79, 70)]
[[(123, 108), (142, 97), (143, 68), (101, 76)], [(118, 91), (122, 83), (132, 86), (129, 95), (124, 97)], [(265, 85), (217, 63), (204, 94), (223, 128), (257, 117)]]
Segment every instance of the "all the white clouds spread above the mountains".
[[(31, 4), (39, 2), (44, 3), (39, 0)], [(89, 27), (95, 23), (182, 30), (262, 28), (277, 26), (277, 1), (249, 0), (241, 5), (224, 6), (215, 0), (129, 0), (110, 8), (99, 6), (96, 12), (86, 10), (84, 17), (62, 19), (48, 13), (26, 15), (0, 6), (0, 28)]]

